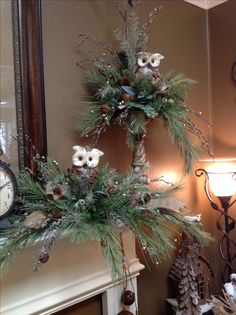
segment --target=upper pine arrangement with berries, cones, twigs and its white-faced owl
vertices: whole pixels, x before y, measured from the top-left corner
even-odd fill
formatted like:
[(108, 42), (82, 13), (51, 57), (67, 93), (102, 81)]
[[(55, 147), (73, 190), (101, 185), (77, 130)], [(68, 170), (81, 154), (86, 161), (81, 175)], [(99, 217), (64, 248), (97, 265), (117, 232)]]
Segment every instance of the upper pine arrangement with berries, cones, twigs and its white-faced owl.
[[(200, 148), (208, 149), (209, 146), (191, 115), (204, 118), (185, 104), (195, 81), (184, 74), (161, 73), (158, 67), (164, 56), (146, 52), (149, 26), (157, 15), (157, 8), (149, 14), (146, 23), (140, 24), (135, 1), (128, 12), (122, 12), (114, 3), (124, 21), (124, 30), (115, 31), (119, 49), (88, 35), (80, 35), (79, 47), (91, 41), (105, 53), (92, 59), (94, 69), (87, 75), (92, 94), (85, 104), (86, 110), (81, 113), (78, 128), (82, 135), (92, 136), (96, 141), (109, 126), (122, 126), (135, 160), (135, 156), (141, 154), (138, 147), (148, 124), (162, 119), (183, 155), (184, 173), (189, 173)], [(144, 152), (142, 158), (145, 160)], [(138, 162), (142, 163), (140, 159)]]

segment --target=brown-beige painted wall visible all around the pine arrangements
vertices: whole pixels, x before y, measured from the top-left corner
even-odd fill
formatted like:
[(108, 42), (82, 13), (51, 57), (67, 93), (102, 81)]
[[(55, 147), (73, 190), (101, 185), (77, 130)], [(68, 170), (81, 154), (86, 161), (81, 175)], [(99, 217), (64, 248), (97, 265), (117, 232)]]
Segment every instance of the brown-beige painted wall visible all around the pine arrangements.
[[(231, 4), (223, 4), (210, 12), (220, 10), (220, 7), (226, 7), (227, 5), (235, 6), (236, 2), (234, 0), (230, 2)], [(123, 1), (119, 3), (122, 5)], [(149, 0), (142, 2), (139, 11), (142, 19), (147, 17), (155, 3), (155, 1)], [(164, 0), (161, 3), (163, 9), (151, 26), (148, 50), (165, 55), (160, 67), (161, 71), (184, 72), (187, 76), (198, 81), (189, 96), (188, 104), (194, 111), (201, 111), (206, 119), (211, 120), (206, 11), (181, 0)], [(97, 46), (91, 44), (85, 45), (80, 54), (76, 52), (76, 45), (79, 42), (78, 35), (88, 34), (115, 44), (113, 30), (119, 27), (121, 18), (112, 6), (112, 1), (108, 0), (43, 0), (42, 7), (49, 154), (58, 159), (64, 167), (70, 167), (72, 145), (89, 144), (87, 139), (81, 139), (78, 132), (74, 130), (77, 122), (76, 112), (83, 111), (82, 100), (87, 95), (84, 86), (86, 72), (78, 68), (76, 62), (88, 58), (88, 53), (92, 55), (102, 54)], [(230, 12), (232, 18), (232, 8), (229, 9)], [(217, 16), (219, 15), (218, 13)], [(220, 36), (218, 30), (221, 29), (222, 24), (217, 25), (216, 18), (213, 15), (210, 18), (213, 36), (212, 56), (214, 57), (216, 50), (221, 52), (217, 57), (219, 66), (215, 66), (217, 60), (214, 58), (212, 62), (213, 79), (219, 82), (221, 74), (222, 79), (228, 74), (228, 72), (225, 72), (227, 71), (225, 70), (225, 63), (221, 63), (221, 61), (226, 58), (228, 62), (229, 57), (224, 56), (224, 52), (216, 46)], [(232, 32), (235, 30), (233, 26), (228, 25), (227, 27)], [(226, 36), (222, 36), (226, 40)], [(232, 47), (235, 40), (233, 41), (229, 37), (228, 42), (231, 43)], [(221, 49), (226, 47), (228, 42), (223, 42), (220, 45), (222, 46)], [(234, 55), (230, 58), (235, 58), (235, 50)], [(231, 59), (230, 65), (232, 63)], [(227, 123), (230, 121), (230, 130), (235, 128), (234, 116), (232, 115), (236, 109), (235, 103), (232, 102), (235, 86), (232, 85), (232, 82), (229, 82), (229, 84), (230, 87), (226, 87), (224, 82), (215, 83), (213, 81), (214, 143), (215, 152), (220, 152), (221, 155), (233, 155), (235, 149), (235, 132), (232, 136), (225, 128), (226, 121)], [(224, 110), (222, 110), (222, 106)], [(222, 116), (224, 120), (222, 120)], [(208, 127), (202, 122), (200, 122), (200, 127), (209, 136)], [(222, 143), (224, 143), (223, 149)], [(101, 137), (96, 146), (105, 152), (105, 157), (102, 158), (103, 162), (108, 161), (112, 167), (121, 171), (129, 168), (131, 152), (125, 144), (123, 130), (118, 128), (109, 130)], [(182, 161), (160, 122), (154, 122), (149, 126), (146, 152), (147, 159), (152, 165), (150, 176), (162, 175), (167, 171), (180, 173), (183, 166)], [(206, 154), (203, 157), (206, 157)], [(197, 212), (203, 214), (203, 223), (207, 230), (211, 231), (217, 238), (218, 235), (215, 229), (217, 215), (210, 209), (202, 185), (201, 180), (197, 180), (195, 176), (187, 178), (185, 188), (179, 194), (179, 197), (196, 209)], [(216, 243), (211, 244), (206, 255), (215, 268), (216, 275), (219, 275), (219, 256)], [(143, 260), (141, 254), (140, 259)], [(168, 296), (166, 278), (171, 261), (171, 259), (168, 259), (158, 267), (150, 265), (151, 272), (148, 268), (142, 272), (138, 282), (140, 314), (167, 314), (164, 300)], [(217, 283), (219, 286), (218, 278)]]

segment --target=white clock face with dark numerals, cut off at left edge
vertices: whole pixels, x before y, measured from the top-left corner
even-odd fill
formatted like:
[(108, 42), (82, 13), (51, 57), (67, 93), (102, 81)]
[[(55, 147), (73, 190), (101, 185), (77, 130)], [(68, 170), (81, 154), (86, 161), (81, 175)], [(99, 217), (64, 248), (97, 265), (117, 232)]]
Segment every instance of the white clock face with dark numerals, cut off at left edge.
[(14, 206), (16, 179), (9, 167), (0, 162), (0, 219), (7, 216)]

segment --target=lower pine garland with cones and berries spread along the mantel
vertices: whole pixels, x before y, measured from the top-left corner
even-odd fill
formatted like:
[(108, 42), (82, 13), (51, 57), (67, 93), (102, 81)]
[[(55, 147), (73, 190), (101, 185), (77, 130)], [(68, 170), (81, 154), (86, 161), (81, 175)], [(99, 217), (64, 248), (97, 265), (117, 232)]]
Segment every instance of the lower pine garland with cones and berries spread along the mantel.
[(124, 228), (133, 231), (154, 262), (166, 259), (174, 248), (170, 222), (178, 233), (181, 227), (202, 244), (211, 239), (190, 210), (176, 212), (150, 202), (169, 196), (179, 186), (156, 179), (158, 189), (151, 191), (138, 184), (138, 175), (121, 176), (107, 165), (91, 182), (70, 170), (62, 171), (50, 158), (46, 162), (38, 158), (36, 162), (40, 170), (37, 178), (27, 170), (20, 174), (20, 211), (11, 218), (13, 225), (1, 229), (2, 270), (22, 249), (40, 240), (33, 267), (37, 270), (48, 261), (55, 239), (67, 236), (77, 244), (88, 240), (101, 244), (112, 275), (117, 278), (123, 276), (120, 233)]

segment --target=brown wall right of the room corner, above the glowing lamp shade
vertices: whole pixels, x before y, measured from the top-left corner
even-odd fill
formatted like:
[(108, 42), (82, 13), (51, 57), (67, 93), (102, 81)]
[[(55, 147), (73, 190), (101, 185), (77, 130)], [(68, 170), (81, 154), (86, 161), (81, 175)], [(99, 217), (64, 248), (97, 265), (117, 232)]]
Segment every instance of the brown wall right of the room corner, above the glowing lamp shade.
[(236, 61), (236, 1), (210, 10), (214, 152), (236, 156), (236, 83), (231, 68)]

